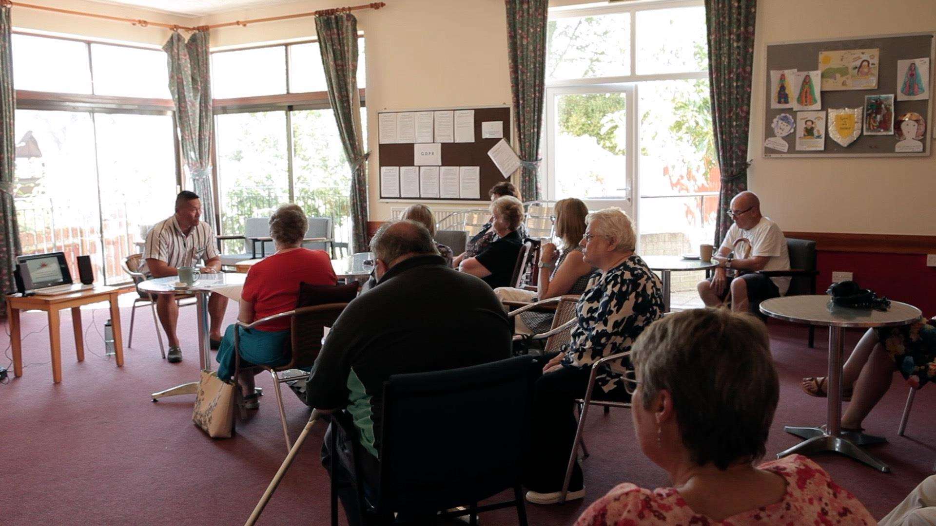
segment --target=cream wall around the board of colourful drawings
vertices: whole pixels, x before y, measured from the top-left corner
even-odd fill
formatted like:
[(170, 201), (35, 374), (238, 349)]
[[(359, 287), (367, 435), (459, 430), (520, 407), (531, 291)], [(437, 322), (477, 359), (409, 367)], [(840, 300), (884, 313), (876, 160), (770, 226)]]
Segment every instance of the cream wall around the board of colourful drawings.
[(761, 131), (768, 76), (764, 66), (765, 44), (912, 33), (934, 28), (936, 3), (932, 0), (885, 3), (877, 0), (760, 0), (757, 3), (752, 133), (748, 153), (753, 164), (748, 172), (748, 183), (761, 198), (765, 214), (784, 230), (936, 235), (933, 201), (936, 156), (765, 159)]

